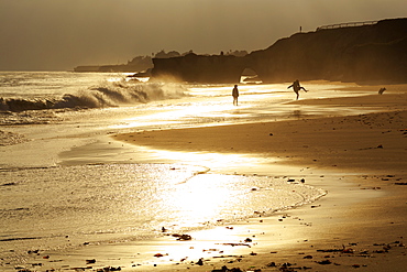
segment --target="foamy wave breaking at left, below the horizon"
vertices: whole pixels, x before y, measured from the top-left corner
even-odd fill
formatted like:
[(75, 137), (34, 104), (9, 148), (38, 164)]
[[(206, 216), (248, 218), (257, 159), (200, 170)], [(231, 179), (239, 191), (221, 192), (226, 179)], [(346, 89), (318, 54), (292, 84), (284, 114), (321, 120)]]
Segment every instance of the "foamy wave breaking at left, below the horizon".
[(183, 85), (125, 81), (103, 83), (100, 86), (79, 90), (77, 94), (65, 94), (62, 98), (0, 98), (1, 111), (24, 111), (65, 108), (105, 108), (133, 104), (145, 104), (154, 100), (180, 98), (187, 88)]

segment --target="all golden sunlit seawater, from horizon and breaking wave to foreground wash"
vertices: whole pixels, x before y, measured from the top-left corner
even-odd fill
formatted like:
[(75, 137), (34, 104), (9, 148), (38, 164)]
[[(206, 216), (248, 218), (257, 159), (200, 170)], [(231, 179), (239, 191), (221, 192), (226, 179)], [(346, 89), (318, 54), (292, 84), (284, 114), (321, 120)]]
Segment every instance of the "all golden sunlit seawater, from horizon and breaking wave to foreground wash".
[[(32, 252), (68, 254), (84, 244), (145, 242), (162, 236), (163, 227), (188, 233), (272, 215), (324, 194), (287, 183), (286, 176), (239, 172), (252, 165), (255, 173), (256, 163), (268, 159), (156, 151), (110, 135), (354, 109), (292, 104), (289, 84), (240, 85), (235, 107), (233, 86), (144, 83), (127, 76), (0, 72), (1, 270), (24, 266)], [(308, 83), (310, 91), (301, 97), (361, 95), (341, 90), (344, 86)]]

